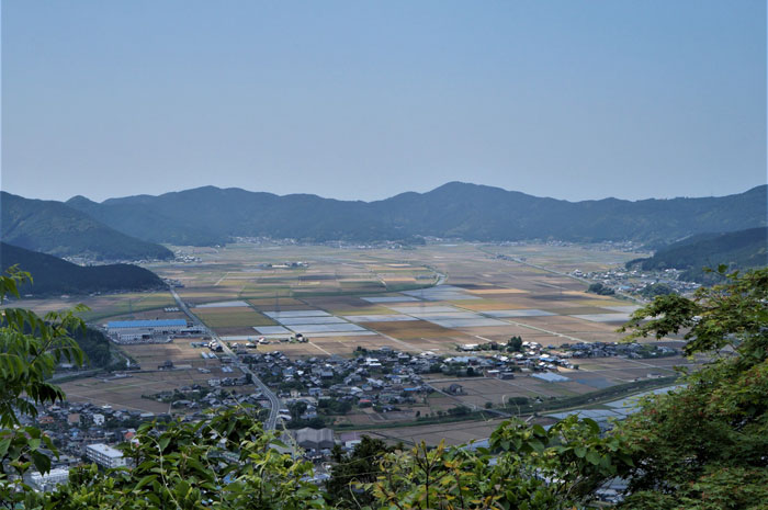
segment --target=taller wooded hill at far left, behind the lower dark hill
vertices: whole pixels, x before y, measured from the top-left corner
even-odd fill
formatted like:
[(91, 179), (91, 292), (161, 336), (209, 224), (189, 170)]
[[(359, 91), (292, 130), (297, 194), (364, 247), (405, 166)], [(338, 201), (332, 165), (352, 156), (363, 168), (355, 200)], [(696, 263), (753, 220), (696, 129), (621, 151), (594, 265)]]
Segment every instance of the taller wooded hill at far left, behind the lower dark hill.
[(98, 260), (170, 259), (173, 253), (115, 230), (61, 202), (0, 192), (2, 240), (57, 257)]

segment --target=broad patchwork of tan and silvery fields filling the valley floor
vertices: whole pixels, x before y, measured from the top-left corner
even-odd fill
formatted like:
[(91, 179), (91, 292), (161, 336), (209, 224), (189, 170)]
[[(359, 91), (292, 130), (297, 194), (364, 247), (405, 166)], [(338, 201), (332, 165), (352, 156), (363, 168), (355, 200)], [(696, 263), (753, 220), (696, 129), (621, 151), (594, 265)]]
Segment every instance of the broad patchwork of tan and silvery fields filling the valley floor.
[[(513, 335), (545, 345), (614, 341), (633, 307), (587, 294), (585, 283), (562, 274), (636, 256), (620, 251), (468, 243), (405, 251), (250, 243), (181, 250), (200, 261), (151, 269), (184, 284), (180, 295), (206, 325), (233, 340), (308, 336), (309, 345), (264, 348), (291, 355), (349, 355), (359, 344), (450, 354), (458, 344)], [(217, 303), (225, 306), (208, 307)], [(334, 319), (282, 324), (270, 315), (284, 311), (323, 311)]]

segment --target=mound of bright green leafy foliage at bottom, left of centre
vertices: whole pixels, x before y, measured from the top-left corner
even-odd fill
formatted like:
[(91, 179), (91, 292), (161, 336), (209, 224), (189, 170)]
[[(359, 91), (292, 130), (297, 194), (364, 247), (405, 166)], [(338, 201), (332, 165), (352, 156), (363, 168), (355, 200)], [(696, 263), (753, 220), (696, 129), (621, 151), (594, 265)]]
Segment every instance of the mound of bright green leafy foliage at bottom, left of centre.
[(229, 409), (165, 430), (145, 423), (123, 446), (135, 467), (79, 469), (48, 503), (59, 510), (324, 508), (320, 489), (308, 481), (312, 464), (284, 453), (253, 411)]

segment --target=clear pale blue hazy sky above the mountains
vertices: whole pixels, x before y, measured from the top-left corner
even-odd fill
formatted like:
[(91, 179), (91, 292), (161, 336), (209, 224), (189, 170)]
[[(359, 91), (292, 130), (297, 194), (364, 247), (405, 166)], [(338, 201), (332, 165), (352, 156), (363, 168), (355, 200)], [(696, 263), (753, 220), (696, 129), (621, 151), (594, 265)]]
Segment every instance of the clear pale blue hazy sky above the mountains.
[(761, 0), (2, 2), (3, 190), (766, 182)]

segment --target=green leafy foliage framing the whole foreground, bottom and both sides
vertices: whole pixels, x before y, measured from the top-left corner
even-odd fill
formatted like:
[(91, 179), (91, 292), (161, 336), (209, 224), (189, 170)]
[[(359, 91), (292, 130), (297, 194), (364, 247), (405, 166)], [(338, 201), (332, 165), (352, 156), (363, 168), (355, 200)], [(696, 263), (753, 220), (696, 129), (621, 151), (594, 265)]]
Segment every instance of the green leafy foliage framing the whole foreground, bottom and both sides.
[[(134, 468), (102, 473), (81, 467), (72, 472), (69, 486), (53, 494), (33, 492), (3, 472), (0, 500), (7, 508), (59, 510), (544, 510), (589, 507), (599, 487), (623, 476), (630, 481), (629, 497), (620, 505), (624, 509), (766, 508), (768, 269), (730, 279), (692, 299), (658, 297), (633, 316), (626, 326), (633, 337), (685, 331), (687, 352), (711, 353), (713, 361), (687, 375), (686, 387), (645, 399), (640, 412), (609, 433), (572, 416), (549, 430), (506, 421), (488, 449), (420, 444), (405, 451), (366, 441), (352, 455), (337, 453), (334, 478), (324, 488), (310, 480), (309, 463), (294, 458), (250, 409), (240, 408), (199, 423), (144, 424), (138, 443), (124, 446)], [(14, 281), (3, 279), (2, 285), (12, 293)], [(36, 401), (61, 398), (53, 386), (35, 388), (57, 355), (50, 339), (71, 348), (57, 329), (70, 316), (45, 321), (29, 313), (18, 317), (36, 324), (37, 335), (22, 335), (15, 319), (2, 330), (0, 359), (13, 353), (18, 360), (3, 362), (0, 373), (3, 387), (11, 383), (8, 387), (15, 388), (2, 395), (3, 427), (16, 422), (14, 404), (22, 412), (34, 412), (21, 404), (22, 393)], [(37, 358), (48, 360), (42, 369), (35, 365)], [(0, 438), (3, 465), (15, 473), (32, 463), (46, 468), (39, 453), (46, 440), (39, 431), (9, 429)]]

